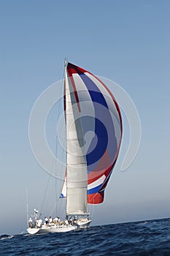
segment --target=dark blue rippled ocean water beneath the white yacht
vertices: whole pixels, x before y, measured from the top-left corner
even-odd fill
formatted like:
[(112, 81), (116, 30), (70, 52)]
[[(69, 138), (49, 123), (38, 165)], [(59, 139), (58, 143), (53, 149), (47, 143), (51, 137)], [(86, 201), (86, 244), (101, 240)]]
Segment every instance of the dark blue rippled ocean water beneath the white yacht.
[(0, 255), (170, 255), (170, 219), (0, 236)]

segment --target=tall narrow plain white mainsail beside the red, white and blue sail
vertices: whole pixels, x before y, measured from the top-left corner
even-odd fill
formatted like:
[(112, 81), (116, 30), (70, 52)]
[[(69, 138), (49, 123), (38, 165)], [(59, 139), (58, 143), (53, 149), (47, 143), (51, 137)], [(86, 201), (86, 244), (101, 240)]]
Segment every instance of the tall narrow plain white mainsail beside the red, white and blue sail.
[(66, 216), (87, 215), (88, 173), (84, 138), (72, 81), (65, 66), (65, 118), (66, 118)]

